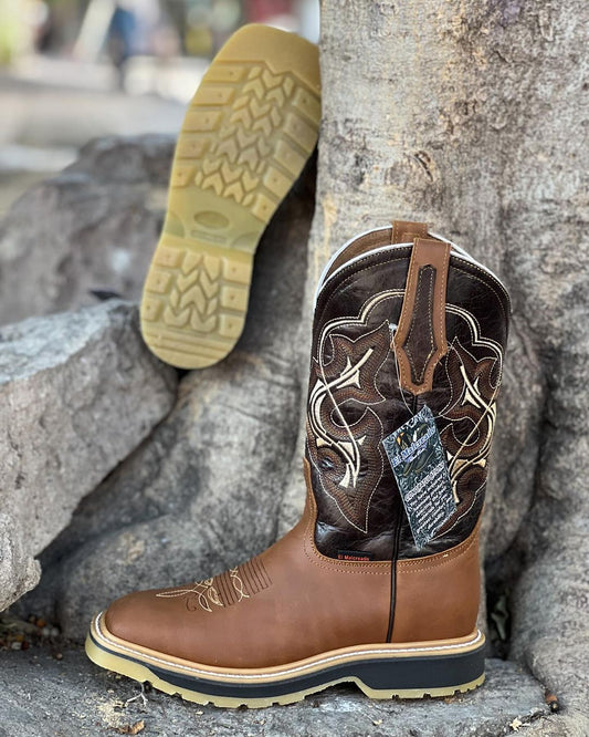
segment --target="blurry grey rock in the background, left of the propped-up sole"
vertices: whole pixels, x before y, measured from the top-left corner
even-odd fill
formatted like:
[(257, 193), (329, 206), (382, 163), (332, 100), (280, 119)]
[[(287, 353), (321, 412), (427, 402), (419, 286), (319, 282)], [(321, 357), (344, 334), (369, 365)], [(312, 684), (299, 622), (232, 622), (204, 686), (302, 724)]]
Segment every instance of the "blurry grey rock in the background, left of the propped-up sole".
[(138, 299), (161, 227), (171, 136), (101, 138), (0, 222), (0, 322)]

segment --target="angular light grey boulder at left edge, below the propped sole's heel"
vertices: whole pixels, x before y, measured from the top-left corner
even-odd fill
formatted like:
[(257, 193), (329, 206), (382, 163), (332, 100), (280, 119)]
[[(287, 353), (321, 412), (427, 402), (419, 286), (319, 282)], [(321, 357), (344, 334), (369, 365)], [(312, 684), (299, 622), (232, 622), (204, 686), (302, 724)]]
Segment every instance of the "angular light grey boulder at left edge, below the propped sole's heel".
[(34, 587), (34, 556), (173, 403), (137, 310), (119, 301), (0, 330), (0, 611)]

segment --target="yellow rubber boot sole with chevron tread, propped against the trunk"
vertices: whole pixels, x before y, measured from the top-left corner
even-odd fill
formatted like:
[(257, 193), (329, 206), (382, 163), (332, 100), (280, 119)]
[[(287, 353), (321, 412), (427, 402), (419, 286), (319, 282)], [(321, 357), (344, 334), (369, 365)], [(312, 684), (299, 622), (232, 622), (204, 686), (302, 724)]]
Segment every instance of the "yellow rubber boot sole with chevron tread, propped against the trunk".
[(240, 29), (204, 74), (141, 300), (162, 361), (201, 369), (235, 345), (260, 238), (317, 142), (319, 89), (317, 46), (264, 25)]

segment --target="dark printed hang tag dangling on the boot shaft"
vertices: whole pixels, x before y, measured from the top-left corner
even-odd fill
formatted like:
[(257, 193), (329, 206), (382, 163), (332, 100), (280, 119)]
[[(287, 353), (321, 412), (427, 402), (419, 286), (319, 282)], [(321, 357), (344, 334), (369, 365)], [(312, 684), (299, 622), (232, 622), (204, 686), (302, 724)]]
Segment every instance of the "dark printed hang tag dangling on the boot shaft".
[(456, 511), (445, 453), (431, 409), (423, 409), (382, 440), (411, 532), (423, 548)]

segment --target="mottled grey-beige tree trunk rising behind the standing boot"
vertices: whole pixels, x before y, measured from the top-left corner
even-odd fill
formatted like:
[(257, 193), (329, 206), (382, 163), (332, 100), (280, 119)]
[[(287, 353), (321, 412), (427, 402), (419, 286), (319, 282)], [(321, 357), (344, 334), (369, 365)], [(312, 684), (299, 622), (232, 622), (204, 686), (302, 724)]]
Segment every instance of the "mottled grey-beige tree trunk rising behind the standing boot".
[(306, 367), (329, 255), (393, 218), (429, 222), (506, 282), (488, 585), (512, 590), (513, 656), (561, 699), (562, 715), (537, 727), (550, 734), (589, 729), (585, 11), (581, 0), (323, 1), (301, 341)]

